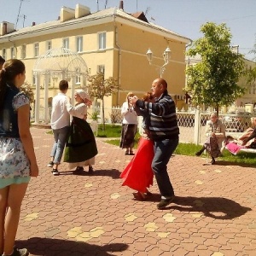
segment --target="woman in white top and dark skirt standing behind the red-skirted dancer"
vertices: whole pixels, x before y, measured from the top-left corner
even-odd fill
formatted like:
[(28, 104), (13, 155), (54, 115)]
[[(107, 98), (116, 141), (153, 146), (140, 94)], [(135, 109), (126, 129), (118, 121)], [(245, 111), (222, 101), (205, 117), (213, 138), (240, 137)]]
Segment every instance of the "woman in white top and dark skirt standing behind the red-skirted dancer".
[(120, 148), (126, 148), (125, 154), (133, 155), (134, 138), (137, 133), (137, 113), (135, 112), (131, 99), (134, 96), (129, 92), (123, 103), (121, 114), (123, 116)]

